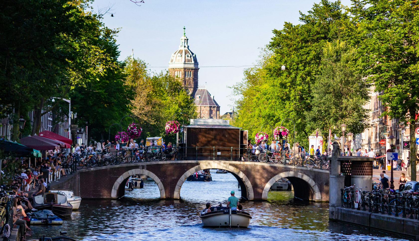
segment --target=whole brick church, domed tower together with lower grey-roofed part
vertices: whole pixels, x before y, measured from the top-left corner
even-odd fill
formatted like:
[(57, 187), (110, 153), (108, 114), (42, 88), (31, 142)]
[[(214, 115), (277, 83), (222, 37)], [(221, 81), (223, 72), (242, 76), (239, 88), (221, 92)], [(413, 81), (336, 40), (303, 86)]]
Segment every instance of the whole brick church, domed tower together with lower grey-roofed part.
[(198, 60), (197, 56), (189, 49), (185, 28), (184, 35), (180, 40), (179, 49), (170, 58), (169, 74), (179, 79), (188, 94), (194, 98), (198, 118), (219, 119), (220, 105), (214, 100), (214, 95), (211, 95), (206, 87), (198, 88)]

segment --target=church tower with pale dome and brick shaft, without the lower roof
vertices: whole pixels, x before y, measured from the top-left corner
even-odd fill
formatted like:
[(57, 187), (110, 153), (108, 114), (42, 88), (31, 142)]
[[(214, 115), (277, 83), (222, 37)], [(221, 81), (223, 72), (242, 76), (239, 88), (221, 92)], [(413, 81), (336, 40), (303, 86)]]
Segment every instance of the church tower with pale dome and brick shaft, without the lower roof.
[(181, 45), (174, 52), (169, 62), (169, 74), (181, 81), (186, 92), (194, 96), (198, 89), (198, 60), (197, 56), (189, 49), (188, 38), (185, 35), (181, 37)]

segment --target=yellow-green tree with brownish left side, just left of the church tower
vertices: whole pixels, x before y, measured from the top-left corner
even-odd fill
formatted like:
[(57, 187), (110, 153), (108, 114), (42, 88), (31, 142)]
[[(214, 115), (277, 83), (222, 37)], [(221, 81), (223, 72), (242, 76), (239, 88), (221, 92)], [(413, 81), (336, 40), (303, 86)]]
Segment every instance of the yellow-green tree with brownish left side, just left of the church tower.
[[(125, 59), (126, 85), (135, 93), (132, 113), (143, 128), (141, 136), (164, 136), (166, 141), (175, 141), (166, 136), (165, 124), (176, 112), (184, 113), (185, 121), (196, 118), (196, 106), (186, 93), (182, 83), (166, 72), (149, 73), (146, 64), (131, 56)], [(181, 122), (180, 115), (176, 120)]]

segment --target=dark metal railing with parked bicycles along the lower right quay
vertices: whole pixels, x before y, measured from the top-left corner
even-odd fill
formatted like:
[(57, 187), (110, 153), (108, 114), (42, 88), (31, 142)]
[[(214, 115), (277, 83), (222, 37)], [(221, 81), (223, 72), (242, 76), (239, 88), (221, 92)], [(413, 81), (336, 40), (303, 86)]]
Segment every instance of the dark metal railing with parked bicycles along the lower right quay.
[[(394, 190), (362, 191), (357, 210), (381, 213), (402, 218), (419, 220), (419, 193), (414, 191), (393, 192)], [(341, 207), (355, 209), (356, 198), (353, 188), (341, 189)]]

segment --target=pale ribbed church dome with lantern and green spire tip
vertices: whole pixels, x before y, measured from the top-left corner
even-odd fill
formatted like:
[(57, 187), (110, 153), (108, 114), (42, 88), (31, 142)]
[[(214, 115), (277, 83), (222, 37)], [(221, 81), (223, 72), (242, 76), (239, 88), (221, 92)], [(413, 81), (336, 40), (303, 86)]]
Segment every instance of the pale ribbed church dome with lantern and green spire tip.
[(169, 62), (169, 68), (179, 67), (198, 67), (197, 56), (189, 49), (188, 38), (185, 36), (185, 28), (179, 49), (172, 54)]

